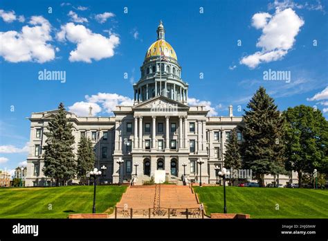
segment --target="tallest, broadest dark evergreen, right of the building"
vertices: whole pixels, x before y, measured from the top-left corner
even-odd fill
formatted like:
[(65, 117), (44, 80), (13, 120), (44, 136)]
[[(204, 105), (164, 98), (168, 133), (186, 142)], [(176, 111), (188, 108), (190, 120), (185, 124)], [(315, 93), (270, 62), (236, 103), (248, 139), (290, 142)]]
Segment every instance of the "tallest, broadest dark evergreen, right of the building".
[(242, 127), (243, 163), (264, 186), (264, 175), (284, 170), (284, 118), (264, 87), (259, 87), (247, 108)]

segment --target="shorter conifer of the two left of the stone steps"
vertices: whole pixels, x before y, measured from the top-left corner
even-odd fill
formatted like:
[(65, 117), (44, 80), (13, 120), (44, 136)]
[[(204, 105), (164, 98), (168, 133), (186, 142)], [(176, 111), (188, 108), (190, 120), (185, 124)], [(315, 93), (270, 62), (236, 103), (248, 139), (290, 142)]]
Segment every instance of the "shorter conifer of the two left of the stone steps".
[(95, 165), (95, 152), (91, 140), (82, 136), (78, 145), (78, 178), (86, 179), (86, 172), (93, 170)]

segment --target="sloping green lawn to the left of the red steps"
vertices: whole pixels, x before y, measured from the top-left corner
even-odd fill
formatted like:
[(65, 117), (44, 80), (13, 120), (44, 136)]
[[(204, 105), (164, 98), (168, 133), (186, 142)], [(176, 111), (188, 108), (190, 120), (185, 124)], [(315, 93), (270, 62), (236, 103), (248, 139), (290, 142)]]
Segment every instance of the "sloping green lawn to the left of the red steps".
[[(97, 186), (96, 212), (115, 206), (126, 188)], [(71, 213), (92, 213), (92, 206), (93, 186), (0, 188), (0, 218), (66, 218)]]

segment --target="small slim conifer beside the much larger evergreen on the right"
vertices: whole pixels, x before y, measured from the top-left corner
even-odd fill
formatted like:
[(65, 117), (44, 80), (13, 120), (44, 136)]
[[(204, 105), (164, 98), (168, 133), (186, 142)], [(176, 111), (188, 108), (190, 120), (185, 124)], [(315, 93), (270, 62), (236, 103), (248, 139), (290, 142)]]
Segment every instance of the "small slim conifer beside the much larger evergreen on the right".
[[(235, 170), (242, 168), (242, 157), (235, 129), (230, 133), (228, 142), (225, 146), (226, 152), (224, 153), (224, 167), (227, 169), (233, 168)], [(231, 173), (231, 175), (233, 175), (233, 173)], [(234, 183), (235, 179), (232, 178), (232, 181)]]

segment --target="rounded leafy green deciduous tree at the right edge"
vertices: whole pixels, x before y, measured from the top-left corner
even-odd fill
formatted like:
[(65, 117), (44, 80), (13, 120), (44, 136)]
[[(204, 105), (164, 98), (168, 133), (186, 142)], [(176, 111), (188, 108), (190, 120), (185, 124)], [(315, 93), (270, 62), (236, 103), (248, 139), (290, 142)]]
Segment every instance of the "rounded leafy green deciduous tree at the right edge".
[(298, 172), (298, 186), (302, 175), (313, 176), (313, 170), (328, 170), (328, 124), (318, 109), (299, 105), (284, 111), (286, 119), (286, 169)]

